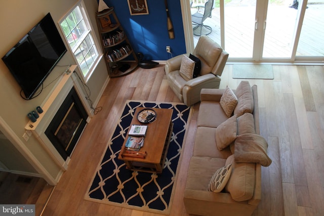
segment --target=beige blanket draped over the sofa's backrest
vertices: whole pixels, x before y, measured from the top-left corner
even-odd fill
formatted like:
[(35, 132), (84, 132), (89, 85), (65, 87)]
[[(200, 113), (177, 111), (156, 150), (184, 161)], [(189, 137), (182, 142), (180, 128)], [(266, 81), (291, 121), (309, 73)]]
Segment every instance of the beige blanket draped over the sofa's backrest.
[(257, 134), (242, 134), (234, 143), (235, 162), (260, 163), (269, 166), (272, 160), (267, 155), (268, 143)]

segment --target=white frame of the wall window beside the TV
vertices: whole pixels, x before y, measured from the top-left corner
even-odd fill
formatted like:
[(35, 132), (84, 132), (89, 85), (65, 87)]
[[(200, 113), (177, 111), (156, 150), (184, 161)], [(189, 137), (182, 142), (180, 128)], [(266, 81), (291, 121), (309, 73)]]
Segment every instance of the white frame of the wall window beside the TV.
[[(86, 33), (84, 33), (84, 36), (82, 39), (80, 39), (79, 43), (74, 46), (76, 47), (75, 49), (71, 48), (70, 47), (70, 44), (69, 44), (69, 41), (68, 41), (68, 38), (65, 36), (65, 33), (64, 33), (64, 30), (61, 26), (61, 24), (65, 21), (65, 19), (73, 12), (73, 10), (75, 10), (77, 7), (79, 7), (80, 9), (80, 12), (83, 16), (83, 19), (85, 21), (85, 25), (87, 27), (87, 31)], [(94, 70), (96, 69), (97, 65), (99, 64), (102, 56), (103, 56), (103, 53), (102, 53), (102, 50), (100, 49), (101, 45), (99, 44), (98, 40), (97, 40), (97, 37), (96, 37), (96, 34), (94, 32), (94, 28), (91, 24), (91, 22), (89, 21), (89, 14), (86, 10), (86, 7), (85, 7), (85, 3), (83, 0), (80, 0), (78, 1), (58, 22), (58, 25), (59, 25), (59, 28), (61, 29), (61, 32), (63, 34), (63, 39), (65, 40), (66, 44), (67, 44), (67, 49), (69, 49), (69, 51), (71, 52), (72, 56), (73, 56), (73, 59), (77, 65), (77, 69), (79, 71), (79, 74), (81, 75), (83, 81), (85, 83), (88, 82), (88, 80), (90, 79), (91, 75), (93, 74)], [(82, 72), (82, 68), (81, 66), (79, 65), (78, 61), (77, 61), (77, 58), (76, 58), (76, 55), (74, 54), (74, 52), (76, 52), (76, 50), (79, 48), (79, 46), (86, 40), (87, 36), (90, 35), (92, 37), (92, 40), (93, 40), (93, 44), (95, 46), (95, 49), (96, 49), (96, 53), (97, 53), (97, 57), (94, 59), (94, 62), (91, 66), (91, 68), (89, 69), (88, 73), (86, 75), (83, 74)], [(90, 52), (90, 51), (89, 51)], [(85, 59), (84, 59), (85, 60)]]

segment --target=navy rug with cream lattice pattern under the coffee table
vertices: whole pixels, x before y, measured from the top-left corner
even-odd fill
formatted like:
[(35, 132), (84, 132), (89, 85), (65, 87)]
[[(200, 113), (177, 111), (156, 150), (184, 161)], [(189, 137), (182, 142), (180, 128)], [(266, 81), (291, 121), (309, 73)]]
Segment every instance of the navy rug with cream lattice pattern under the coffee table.
[[(118, 154), (137, 107), (173, 109), (173, 133), (161, 174), (126, 169)], [(186, 137), (190, 107), (183, 103), (127, 101), (85, 195), (86, 200), (153, 213), (170, 214), (177, 169)]]

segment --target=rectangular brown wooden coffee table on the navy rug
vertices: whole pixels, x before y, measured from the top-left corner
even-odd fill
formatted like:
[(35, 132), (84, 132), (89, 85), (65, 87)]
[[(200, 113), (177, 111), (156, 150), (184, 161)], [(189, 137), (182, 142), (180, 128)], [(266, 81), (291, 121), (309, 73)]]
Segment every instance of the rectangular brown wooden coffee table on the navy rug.
[[(142, 109), (144, 108), (136, 108), (130, 125), (141, 124), (141, 122), (137, 120), (137, 113)], [(153, 108), (153, 110), (156, 112), (156, 120), (147, 124), (148, 127), (144, 139), (144, 145), (139, 151), (140, 153), (146, 153), (145, 158), (122, 155), (125, 150), (125, 143), (128, 139), (128, 135), (121, 147), (118, 159), (123, 160), (129, 169), (157, 173), (161, 173), (163, 170), (172, 136), (173, 110), (158, 108)]]

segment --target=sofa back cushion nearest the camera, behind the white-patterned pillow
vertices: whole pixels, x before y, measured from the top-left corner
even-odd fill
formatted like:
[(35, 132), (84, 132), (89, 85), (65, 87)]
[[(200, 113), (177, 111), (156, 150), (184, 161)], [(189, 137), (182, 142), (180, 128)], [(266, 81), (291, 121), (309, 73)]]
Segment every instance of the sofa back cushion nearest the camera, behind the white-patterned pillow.
[(245, 201), (253, 197), (255, 187), (255, 163), (237, 163), (234, 155), (227, 158), (225, 165), (232, 164), (232, 172), (225, 186), (235, 201)]

